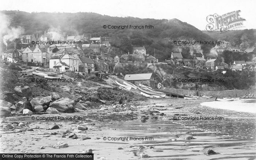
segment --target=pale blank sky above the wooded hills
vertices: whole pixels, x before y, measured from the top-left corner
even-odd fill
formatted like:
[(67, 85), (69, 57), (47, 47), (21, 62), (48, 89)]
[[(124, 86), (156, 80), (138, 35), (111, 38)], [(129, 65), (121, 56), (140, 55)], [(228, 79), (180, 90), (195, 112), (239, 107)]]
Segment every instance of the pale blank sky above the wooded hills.
[[(0, 10), (25, 12), (94, 12), (118, 17), (177, 18), (205, 30), (206, 17), (240, 10), (240, 29), (256, 28), (256, 0), (0, 0)], [(134, 24), (136, 25), (136, 24)]]

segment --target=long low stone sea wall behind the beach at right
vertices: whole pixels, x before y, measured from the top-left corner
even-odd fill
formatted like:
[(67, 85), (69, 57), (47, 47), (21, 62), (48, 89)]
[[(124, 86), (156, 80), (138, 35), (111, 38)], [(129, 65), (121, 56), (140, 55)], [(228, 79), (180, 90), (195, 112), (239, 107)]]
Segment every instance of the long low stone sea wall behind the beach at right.
[(195, 91), (175, 88), (163, 88), (162, 90), (182, 95), (206, 95), (215, 97), (233, 97), (242, 96), (245, 94), (256, 94), (256, 90)]

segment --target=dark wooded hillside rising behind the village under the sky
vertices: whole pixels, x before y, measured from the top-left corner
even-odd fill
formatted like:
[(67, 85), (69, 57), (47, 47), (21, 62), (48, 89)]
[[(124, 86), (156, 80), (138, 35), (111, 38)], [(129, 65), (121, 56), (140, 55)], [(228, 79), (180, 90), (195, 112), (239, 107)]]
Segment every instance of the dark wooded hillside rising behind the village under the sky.
[[(132, 46), (145, 46), (147, 53), (153, 55), (154, 49), (159, 60), (170, 57), (171, 52), (177, 52), (173, 39), (197, 41), (212, 41), (209, 35), (202, 33), (196, 27), (181, 22), (178, 19), (140, 19), (133, 17), (111, 17), (95, 13), (27, 13), (22, 11), (1, 11), (10, 19), (10, 27), (21, 26), (23, 34), (44, 34), (49, 27), (59, 27), (66, 35), (87, 34), (92, 37), (111, 37), (113, 46), (110, 55), (121, 55), (132, 51)], [(154, 29), (104, 29), (103, 25), (153, 25)], [(5, 47), (5, 46), (1, 46)], [(202, 46), (204, 54), (209, 53), (212, 46)], [(182, 52), (188, 52), (182, 50)], [(190, 53), (185, 53), (190, 56)], [(187, 58), (187, 57), (185, 57)]]

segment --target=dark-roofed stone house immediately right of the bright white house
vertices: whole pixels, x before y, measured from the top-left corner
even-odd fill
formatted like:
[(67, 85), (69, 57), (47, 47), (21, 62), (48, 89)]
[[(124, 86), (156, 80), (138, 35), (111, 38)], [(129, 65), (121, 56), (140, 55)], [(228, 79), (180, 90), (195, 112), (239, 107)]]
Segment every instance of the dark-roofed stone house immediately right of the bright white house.
[(89, 74), (95, 71), (95, 63), (90, 58), (79, 57), (79, 72)]

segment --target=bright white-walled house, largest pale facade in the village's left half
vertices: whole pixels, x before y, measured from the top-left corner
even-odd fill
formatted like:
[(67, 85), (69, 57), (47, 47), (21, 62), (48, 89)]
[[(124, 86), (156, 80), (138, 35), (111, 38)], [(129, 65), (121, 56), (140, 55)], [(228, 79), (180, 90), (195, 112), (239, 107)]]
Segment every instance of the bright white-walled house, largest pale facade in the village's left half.
[(56, 72), (75, 72), (79, 70), (79, 60), (69, 54), (53, 56), (50, 58), (49, 68)]

